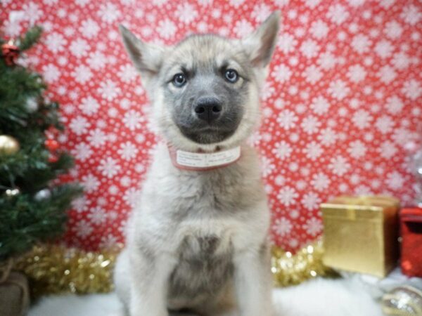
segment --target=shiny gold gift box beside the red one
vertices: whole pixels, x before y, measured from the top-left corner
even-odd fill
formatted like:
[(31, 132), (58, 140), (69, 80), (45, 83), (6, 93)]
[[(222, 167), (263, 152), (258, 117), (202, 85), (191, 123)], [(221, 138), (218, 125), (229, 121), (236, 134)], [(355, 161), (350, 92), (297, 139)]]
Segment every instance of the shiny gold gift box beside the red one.
[(385, 277), (397, 265), (399, 200), (337, 197), (321, 204), (328, 267)]

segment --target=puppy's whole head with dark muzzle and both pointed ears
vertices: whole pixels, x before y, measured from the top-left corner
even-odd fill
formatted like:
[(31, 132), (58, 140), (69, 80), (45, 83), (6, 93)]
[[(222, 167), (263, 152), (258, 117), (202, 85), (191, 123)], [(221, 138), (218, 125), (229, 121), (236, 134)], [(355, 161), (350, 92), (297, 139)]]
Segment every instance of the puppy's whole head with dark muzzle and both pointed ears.
[(153, 124), (184, 150), (238, 145), (260, 118), (259, 91), (279, 29), (273, 13), (245, 39), (193, 35), (159, 47), (120, 26), (124, 46), (153, 103)]

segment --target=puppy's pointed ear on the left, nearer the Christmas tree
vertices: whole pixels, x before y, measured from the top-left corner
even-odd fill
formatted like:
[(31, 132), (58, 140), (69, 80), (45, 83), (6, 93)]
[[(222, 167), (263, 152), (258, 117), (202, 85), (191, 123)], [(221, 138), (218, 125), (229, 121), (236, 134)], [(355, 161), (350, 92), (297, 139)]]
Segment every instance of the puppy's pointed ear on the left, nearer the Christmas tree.
[(149, 81), (160, 71), (164, 48), (141, 41), (123, 25), (119, 25), (119, 29), (129, 58), (141, 73), (142, 79)]

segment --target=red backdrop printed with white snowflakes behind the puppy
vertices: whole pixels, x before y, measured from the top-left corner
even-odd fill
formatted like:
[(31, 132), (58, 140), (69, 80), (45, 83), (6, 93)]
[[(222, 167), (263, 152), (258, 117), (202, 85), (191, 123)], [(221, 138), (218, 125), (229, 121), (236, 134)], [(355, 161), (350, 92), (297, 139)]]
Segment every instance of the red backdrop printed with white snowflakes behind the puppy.
[(283, 22), (262, 92), (262, 154), (274, 241), (295, 249), (321, 233), (318, 206), (340, 194), (414, 195), (407, 143), (418, 140), (421, 2), (407, 0), (2, 1), (6, 36), (44, 27), (26, 62), (61, 104), (70, 178), (86, 194), (66, 240), (96, 249), (123, 240), (155, 137), (148, 100), (117, 25), (174, 44), (191, 32), (243, 37), (274, 9)]

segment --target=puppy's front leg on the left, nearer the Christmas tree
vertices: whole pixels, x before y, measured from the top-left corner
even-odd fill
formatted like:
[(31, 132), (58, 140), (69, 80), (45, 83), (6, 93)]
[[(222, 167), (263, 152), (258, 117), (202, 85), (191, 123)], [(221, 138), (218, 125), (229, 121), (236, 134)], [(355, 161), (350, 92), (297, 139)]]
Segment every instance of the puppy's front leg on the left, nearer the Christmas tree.
[(167, 289), (175, 262), (170, 256), (146, 256), (134, 252), (130, 256), (130, 316), (168, 316)]

